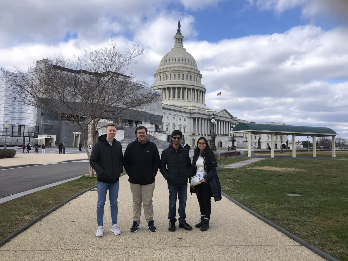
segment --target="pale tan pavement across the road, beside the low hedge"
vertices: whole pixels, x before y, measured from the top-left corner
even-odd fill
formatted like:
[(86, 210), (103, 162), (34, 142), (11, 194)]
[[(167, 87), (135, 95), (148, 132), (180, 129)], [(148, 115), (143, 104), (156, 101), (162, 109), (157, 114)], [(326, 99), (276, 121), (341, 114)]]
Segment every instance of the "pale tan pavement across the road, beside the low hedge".
[(58, 154), (58, 153), (16, 153), (13, 158), (0, 159), (0, 167), (11, 167), (17, 165), (25, 164), (49, 164), (57, 163), (65, 160), (75, 160), (75, 159), (87, 159), (86, 154), (82, 153), (70, 153), (70, 154)]

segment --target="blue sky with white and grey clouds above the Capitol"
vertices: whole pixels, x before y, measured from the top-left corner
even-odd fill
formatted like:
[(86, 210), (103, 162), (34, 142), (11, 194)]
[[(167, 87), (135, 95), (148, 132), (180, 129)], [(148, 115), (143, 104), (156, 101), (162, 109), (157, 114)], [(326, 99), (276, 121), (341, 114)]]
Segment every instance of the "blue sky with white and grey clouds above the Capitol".
[(79, 55), (112, 38), (139, 44), (130, 67), (153, 84), (177, 20), (206, 103), (255, 122), (326, 126), (348, 136), (347, 0), (0, 1), (0, 67)]

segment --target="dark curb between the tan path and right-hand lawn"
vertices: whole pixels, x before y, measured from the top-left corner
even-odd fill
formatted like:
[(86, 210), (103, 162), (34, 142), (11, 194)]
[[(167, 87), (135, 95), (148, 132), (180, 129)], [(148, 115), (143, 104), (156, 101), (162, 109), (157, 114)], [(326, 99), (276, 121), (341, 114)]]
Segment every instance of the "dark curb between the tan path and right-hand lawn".
[[(249, 212), (250, 214), (252, 214), (253, 216), (262, 220), (263, 222), (270, 225), (271, 227), (277, 229), (279, 232), (282, 232), (285, 236), (295, 240), (297, 243), (301, 244), (302, 246), (307, 247), (310, 251), (316, 253), (317, 255), (321, 256), (322, 258), (325, 258), (326, 260), (329, 260), (329, 261), (339, 261), (338, 259), (334, 258), (333, 256), (325, 253), (324, 251), (320, 250), (319, 248), (317, 248), (313, 245), (310, 245), (308, 242), (304, 241), (303, 239), (299, 238), (298, 236), (295, 236), (294, 234), (287, 231), (286, 229), (279, 227), (277, 224), (273, 223), (272, 221), (269, 221), (268, 219), (264, 218), (263, 216), (259, 215), (258, 213), (252, 211), (250, 208), (247, 208), (242, 203), (239, 203), (237, 200), (235, 200), (234, 198), (231, 198), (227, 194), (222, 192), (222, 195), (225, 196), (227, 199), (231, 200), (237, 206), (243, 208), (245, 211)], [(1, 244), (1, 242), (0, 242), (0, 244)]]

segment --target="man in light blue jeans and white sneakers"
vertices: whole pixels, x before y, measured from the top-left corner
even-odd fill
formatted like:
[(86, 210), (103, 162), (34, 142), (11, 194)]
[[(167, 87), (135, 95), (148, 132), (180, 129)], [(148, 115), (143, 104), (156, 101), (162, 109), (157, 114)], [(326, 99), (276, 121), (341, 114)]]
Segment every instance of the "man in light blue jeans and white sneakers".
[(94, 144), (89, 157), (89, 164), (97, 173), (97, 237), (103, 236), (104, 205), (108, 189), (112, 222), (111, 231), (114, 235), (121, 234), (117, 225), (117, 198), (120, 174), (123, 172), (122, 146), (114, 138), (116, 135), (114, 124), (106, 124), (105, 132), (106, 134), (101, 135)]

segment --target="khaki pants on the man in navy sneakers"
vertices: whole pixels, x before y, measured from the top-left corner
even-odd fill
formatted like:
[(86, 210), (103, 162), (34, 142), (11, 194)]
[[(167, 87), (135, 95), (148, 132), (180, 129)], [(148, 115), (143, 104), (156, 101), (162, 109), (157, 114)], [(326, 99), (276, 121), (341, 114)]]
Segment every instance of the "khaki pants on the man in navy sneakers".
[(149, 185), (129, 183), (129, 187), (133, 197), (133, 221), (140, 224), (141, 203), (143, 203), (144, 207), (145, 220), (147, 222), (153, 220), (152, 196), (155, 182)]

